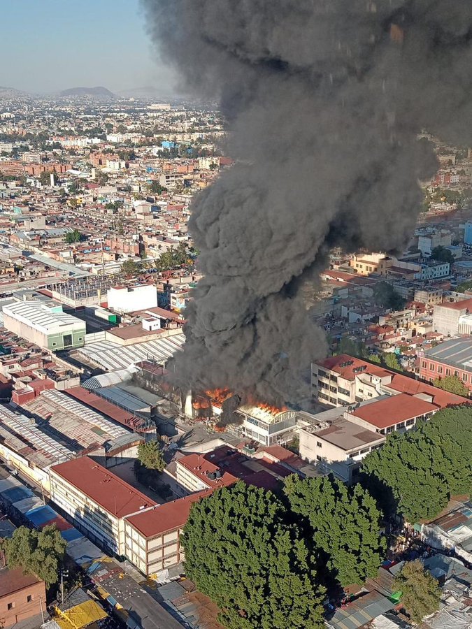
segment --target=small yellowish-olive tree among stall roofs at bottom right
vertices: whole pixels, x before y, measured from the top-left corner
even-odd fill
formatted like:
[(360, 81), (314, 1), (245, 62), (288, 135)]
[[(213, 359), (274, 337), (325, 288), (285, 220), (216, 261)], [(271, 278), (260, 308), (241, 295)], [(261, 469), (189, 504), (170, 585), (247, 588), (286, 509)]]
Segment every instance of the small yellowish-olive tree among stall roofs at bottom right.
[(394, 591), (401, 592), (401, 604), (415, 623), (439, 609), (441, 589), (438, 581), (424, 570), (419, 559), (409, 561), (396, 575)]

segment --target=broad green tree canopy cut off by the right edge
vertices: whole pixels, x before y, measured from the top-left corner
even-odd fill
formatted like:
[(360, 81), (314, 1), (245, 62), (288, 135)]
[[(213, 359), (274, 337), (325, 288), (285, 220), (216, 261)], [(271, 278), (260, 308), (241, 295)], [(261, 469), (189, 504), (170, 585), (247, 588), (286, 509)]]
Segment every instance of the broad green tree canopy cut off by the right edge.
[(438, 411), (415, 431), (392, 433), (366, 456), (367, 482), (391, 493), (409, 522), (431, 519), (454, 494), (472, 490), (472, 406)]

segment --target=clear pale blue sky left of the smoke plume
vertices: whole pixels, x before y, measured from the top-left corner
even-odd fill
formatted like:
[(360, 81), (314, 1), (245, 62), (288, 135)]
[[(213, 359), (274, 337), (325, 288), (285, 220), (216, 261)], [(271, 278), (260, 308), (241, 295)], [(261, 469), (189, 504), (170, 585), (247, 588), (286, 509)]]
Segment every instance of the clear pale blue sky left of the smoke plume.
[(152, 50), (138, 0), (0, 0), (0, 15), (0, 86), (171, 92), (171, 72)]

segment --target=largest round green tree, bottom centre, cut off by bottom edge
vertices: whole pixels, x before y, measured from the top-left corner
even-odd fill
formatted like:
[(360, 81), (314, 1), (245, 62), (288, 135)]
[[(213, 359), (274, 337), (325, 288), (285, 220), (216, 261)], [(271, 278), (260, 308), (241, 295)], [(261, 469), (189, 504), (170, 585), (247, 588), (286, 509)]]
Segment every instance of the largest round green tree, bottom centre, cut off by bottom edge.
[(321, 629), (324, 588), (296, 526), (270, 491), (238, 482), (192, 505), (187, 574), (229, 629)]

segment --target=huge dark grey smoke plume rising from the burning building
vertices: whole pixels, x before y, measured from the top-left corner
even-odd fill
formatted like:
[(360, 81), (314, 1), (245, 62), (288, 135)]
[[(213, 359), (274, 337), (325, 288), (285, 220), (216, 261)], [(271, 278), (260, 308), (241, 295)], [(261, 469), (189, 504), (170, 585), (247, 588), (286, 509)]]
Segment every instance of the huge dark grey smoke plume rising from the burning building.
[(205, 274), (182, 382), (291, 400), (326, 352), (300, 287), (330, 247), (401, 250), (436, 159), (472, 134), (466, 0), (143, 0), (183, 85), (218, 98), (236, 165), (193, 203)]

